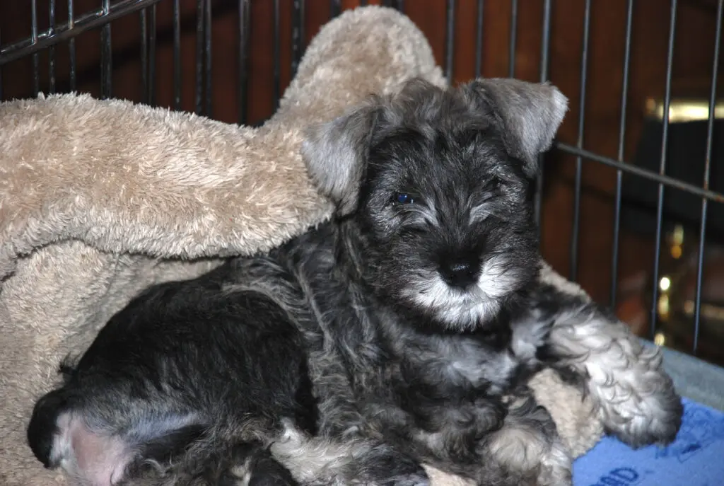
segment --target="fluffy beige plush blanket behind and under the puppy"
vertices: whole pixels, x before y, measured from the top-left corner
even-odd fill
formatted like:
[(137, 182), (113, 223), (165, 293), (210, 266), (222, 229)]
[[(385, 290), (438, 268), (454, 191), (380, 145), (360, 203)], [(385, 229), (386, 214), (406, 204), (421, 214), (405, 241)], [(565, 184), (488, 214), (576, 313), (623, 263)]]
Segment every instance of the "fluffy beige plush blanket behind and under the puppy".
[[(257, 129), (88, 96), (0, 104), (0, 484), (62, 484), (33, 458), (25, 427), (63, 356), (140, 289), (328, 217), (301, 130), (411, 76), (445, 84), (407, 17), (366, 7), (321, 30)], [(590, 404), (552, 374), (535, 386), (571, 451), (589, 449), (601, 435)], [(462, 484), (432, 474), (436, 486)]]

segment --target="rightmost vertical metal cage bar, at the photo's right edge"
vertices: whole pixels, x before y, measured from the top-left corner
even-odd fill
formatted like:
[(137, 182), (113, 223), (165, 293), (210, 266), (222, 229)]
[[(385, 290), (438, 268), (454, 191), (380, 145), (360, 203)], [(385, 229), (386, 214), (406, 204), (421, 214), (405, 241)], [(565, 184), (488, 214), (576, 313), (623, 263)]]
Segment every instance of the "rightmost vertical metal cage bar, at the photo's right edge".
[[(709, 122), (707, 123), (707, 152), (704, 159), (704, 189), (709, 188), (712, 169), (712, 145), (714, 144), (714, 109), (717, 97), (717, 77), (719, 75), (719, 48), (722, 36), (722, 17), (724, 17), (724, 0), (717, 4), (717, 27), (714, 40), (714, 60), (712, 62), (712, 88), (709, 95)], [(699, 348), (699, 321), (702, 311), (702, 274), (704, 273), (704, 240), (707, 235), (707, 209), (709, 201), (702, 198), (702, 224), (699, 227), (699, 259), (696, 262), (696, 297), (694, 303), (694, 343), (691, 352), (696, 355)]]

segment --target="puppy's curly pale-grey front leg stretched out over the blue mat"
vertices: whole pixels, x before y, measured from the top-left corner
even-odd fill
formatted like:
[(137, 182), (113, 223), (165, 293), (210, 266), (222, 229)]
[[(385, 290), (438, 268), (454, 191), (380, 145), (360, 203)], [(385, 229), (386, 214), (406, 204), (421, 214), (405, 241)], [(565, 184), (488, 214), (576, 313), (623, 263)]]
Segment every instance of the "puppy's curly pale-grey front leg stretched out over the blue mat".
[(683, 407), (657, 348), (644, 347), (613, 313), (578, 295), (543, 284), (513, 339), (547, 330), (537, 358), (573, 374), (593, 398), (607, 432), (639, 447), (670, 443)]

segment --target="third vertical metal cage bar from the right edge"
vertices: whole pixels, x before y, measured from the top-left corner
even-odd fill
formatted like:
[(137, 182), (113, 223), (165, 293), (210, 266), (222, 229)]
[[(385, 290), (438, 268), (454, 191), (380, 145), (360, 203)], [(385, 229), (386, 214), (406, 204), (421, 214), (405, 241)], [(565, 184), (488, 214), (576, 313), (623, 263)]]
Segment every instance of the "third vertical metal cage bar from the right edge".
[[(628, 103), (628, 71), (631, 68), (631, 26), (633, 25), (633, 0), (628, 0), (626, 8), (626, 41), (623, 52), (623, 82), (621, 83), (621, 116), (618, 122), (618, 162), (623, 162), (623, 149), (626, 140), (626, 105)], [(621, 228), (621, 187), (623, 171), (616, 170), (616, 196), (613, 209), (613, 250), (611, 251), (611, 309), (616, 306), (618, 293), (618, 240)]]

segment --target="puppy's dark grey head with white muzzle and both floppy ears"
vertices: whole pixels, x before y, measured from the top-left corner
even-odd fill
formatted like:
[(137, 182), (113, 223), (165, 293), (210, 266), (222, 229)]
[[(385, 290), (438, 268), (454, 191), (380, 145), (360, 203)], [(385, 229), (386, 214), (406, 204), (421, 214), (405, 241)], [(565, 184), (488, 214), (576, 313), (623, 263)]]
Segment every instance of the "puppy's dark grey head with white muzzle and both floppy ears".
[(566, 104), (546, 84), (411, 80), (313, 129), (303, 154), (358, 225), (379, 295), (470, 329), (536, 277), (529, 185)]

